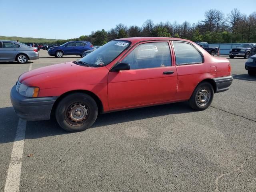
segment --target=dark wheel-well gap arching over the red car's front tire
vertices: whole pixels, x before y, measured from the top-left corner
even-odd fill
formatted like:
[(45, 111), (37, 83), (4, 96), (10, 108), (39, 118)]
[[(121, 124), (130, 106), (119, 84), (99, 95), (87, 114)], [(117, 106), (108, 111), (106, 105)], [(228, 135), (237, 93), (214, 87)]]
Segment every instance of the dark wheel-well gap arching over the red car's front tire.
[(58, 97), (58, 99), (54, 102), (54, 105), (52, 106), (51, 116), (54, 115), (55, 109), (58, 106), (58, 103), (62, 100), (62, 98), (66, 97), (67, 95), (72, 94), (72, 93), (88, 94), (89, 96), (91, 96), (95, 100), (95, 102), (98, 106), (99, 113), (100, 114), (103, 113), (102, 102), (101, 102), (100, 98), (98, 98), (98, 96), (96, 96), (93, 92), (90, 92), (90, 91), (87, 91), (87, 90), (72, 90), (72, 91), (66, 92), (66, 93), (64, 93), (64, 94), (62, 94), (61, 96)]

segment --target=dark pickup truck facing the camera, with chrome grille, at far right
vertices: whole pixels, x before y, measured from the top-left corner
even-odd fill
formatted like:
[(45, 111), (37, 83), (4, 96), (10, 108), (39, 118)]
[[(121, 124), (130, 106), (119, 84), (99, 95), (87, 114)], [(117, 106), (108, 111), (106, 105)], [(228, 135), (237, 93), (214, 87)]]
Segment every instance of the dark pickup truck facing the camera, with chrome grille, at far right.
[(230, 49), (229, 58), (243, 57), (248, 59), (250, 56), (256, 54), (256, 43), (243, 43), (236, 48)]

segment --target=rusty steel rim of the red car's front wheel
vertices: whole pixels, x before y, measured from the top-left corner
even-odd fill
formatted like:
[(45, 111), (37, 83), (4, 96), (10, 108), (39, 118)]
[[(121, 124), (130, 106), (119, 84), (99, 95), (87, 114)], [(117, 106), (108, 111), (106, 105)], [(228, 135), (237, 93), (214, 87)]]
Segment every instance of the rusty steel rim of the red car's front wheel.
[(86, 122), (88, 114), (88, 106), (84, 103), (76, 102), (66, 109), (65, 119), (72, 126), (80, 126)]

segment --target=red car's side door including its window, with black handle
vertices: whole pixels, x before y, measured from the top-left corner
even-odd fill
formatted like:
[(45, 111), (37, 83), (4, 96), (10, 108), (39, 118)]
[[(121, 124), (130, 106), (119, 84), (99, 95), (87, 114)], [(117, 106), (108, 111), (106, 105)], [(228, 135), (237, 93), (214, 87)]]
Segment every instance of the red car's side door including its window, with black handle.
[(177, 72), (168, 42), (140, 43), (121, 62), (128, 63), (130, 70), (109, 72), (110, 109), (157, 104), (174, 98)]

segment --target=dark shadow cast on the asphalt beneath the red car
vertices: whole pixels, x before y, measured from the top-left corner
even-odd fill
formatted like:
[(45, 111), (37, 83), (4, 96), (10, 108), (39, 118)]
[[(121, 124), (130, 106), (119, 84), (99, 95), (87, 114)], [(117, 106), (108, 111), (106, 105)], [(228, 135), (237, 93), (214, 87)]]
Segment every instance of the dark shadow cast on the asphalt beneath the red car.
[[(138, 109), (130, 109), (119, 112), (101, 114), (91, 128), (130, 122), (140, 119), (166, 116), (170, 114), (182, 114), (195, 112), (187, 102), (151, 106)], [(0, 144), (14, 142), (19, 118), (16, 116), (13, 107), (0, 108)], [(46, 121), (26, 122), (25, 139), (37, 139), (55, 135), (70, 134), (66, 132), (56, 122), (55, 118)]]

